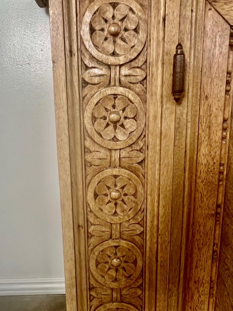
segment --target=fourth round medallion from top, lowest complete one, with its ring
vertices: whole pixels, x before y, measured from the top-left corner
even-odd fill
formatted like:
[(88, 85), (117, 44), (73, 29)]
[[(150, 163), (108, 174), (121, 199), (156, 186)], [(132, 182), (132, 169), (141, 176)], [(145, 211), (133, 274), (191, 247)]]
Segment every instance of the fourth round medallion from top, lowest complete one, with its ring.
[(103, 285), (122, 288), (139, 276), (143, 265), (142, 254), (125, 240), (109, 240), (97, 245), (90, 254), (90, 270)]

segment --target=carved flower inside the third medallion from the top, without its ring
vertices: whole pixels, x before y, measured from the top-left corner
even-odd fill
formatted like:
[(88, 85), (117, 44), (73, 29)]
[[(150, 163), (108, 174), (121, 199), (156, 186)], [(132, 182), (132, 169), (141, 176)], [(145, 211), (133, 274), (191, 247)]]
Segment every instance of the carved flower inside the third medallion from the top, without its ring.
[(96, 205), (107, 215), (126, 215), (135, 206), (135, 184), (124, 176), (107, 176), (95, 187)]

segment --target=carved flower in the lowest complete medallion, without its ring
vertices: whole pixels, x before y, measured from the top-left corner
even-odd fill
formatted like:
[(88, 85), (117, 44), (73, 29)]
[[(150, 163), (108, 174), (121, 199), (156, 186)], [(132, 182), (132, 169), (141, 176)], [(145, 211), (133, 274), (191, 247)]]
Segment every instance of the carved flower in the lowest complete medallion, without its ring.
[(109, 246), (98, 254), (97, 260), (100, 264), (97, 271), (107, 281), (124, 282), (135, 272), (135, 254), (128, 248), (119, 246), (117, 248)]

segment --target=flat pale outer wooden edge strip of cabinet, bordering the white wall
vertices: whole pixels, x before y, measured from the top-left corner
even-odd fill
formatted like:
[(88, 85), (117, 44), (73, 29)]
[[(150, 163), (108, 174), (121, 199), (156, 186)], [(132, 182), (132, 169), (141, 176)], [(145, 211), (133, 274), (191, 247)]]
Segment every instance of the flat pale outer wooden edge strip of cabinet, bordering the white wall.
[(62, 0), (49, 6), (67, 311), (77, 311)]

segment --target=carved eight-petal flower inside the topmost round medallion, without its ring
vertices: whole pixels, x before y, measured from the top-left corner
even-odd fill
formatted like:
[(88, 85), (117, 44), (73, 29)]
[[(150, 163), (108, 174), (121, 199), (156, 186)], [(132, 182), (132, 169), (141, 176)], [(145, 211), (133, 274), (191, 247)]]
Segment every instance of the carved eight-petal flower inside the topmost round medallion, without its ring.
[(114, 52), (119, 55), (128, 53), (138, 42), (138, 35), (134, 29), (138, 25), (138, 18), (130, 7), (119, 4), (115, 10), (110, 4), (103, 4), (91, 19), (92, 42), (104, 54)]

